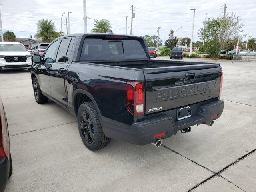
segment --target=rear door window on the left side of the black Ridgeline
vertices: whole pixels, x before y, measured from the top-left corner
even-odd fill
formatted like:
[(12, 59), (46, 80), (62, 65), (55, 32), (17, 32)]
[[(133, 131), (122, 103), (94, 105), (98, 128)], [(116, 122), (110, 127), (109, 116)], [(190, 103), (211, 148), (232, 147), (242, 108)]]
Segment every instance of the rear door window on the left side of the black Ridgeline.
[(70, 57), (74, 38), (62, 39), (60, 47), (58, 49), (56, 62), (66, 62)]

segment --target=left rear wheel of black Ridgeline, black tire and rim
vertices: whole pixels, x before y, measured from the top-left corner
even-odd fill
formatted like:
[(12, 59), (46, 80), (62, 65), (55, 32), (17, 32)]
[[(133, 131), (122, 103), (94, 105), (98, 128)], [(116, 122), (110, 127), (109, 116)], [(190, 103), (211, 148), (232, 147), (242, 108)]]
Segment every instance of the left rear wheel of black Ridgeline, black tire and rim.
[(88, 149), (98, 150), (110, 143), (111, 138), (105, 136), (98, 113), (92, 102), (85, 102), (80, 105), (77, 123), (80, 137)]

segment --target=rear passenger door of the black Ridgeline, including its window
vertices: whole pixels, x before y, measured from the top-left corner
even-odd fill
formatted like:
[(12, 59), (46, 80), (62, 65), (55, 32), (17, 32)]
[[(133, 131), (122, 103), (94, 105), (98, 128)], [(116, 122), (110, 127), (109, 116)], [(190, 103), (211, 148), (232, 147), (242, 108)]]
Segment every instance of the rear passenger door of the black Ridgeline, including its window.
[(61, 40), (56, 62), (53, 62), (52, 67), (49, 69), (51, 96), (65, 108), (68, 101), (65, 89), (66, 68), (69, 63), (73, 43), (74, 38), (63, 38)]

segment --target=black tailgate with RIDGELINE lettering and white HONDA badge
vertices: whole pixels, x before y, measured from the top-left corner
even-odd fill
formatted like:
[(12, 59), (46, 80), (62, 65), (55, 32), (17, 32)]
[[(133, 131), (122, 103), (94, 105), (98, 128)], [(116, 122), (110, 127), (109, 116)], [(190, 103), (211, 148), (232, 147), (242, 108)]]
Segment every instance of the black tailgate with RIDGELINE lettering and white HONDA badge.
[(143, 69), (145, 114), (189, 106), (219, 96), (219, 64)]

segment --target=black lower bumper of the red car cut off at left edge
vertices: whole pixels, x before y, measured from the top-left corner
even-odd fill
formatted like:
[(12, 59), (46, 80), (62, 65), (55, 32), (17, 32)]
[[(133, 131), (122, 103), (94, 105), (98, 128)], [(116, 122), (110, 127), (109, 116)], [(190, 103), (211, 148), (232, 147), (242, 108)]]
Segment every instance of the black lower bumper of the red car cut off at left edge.
[(0, 158), (0, 192), (4, 192), (9, 177), (10, 161), (7, 157)]

